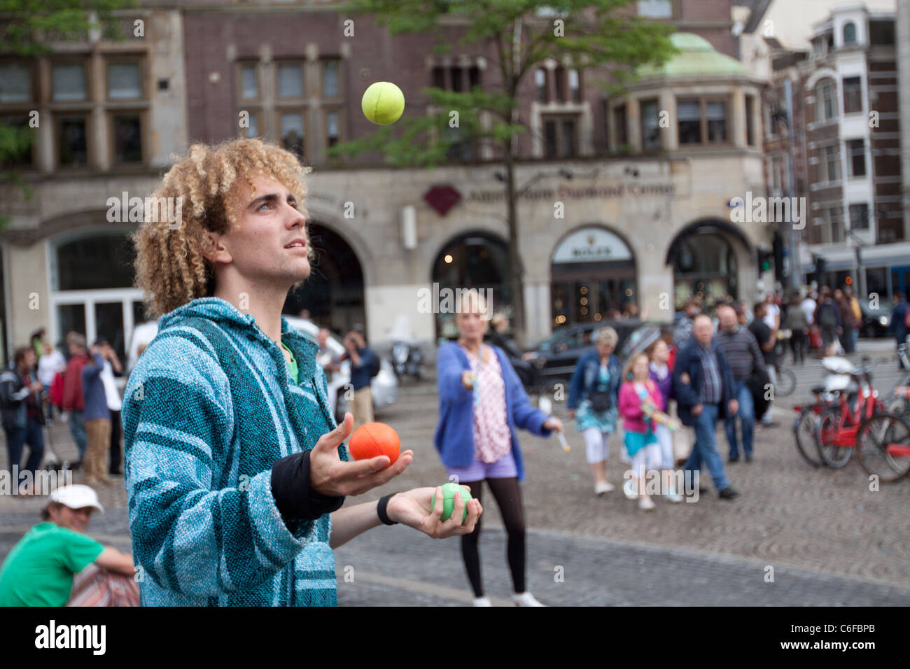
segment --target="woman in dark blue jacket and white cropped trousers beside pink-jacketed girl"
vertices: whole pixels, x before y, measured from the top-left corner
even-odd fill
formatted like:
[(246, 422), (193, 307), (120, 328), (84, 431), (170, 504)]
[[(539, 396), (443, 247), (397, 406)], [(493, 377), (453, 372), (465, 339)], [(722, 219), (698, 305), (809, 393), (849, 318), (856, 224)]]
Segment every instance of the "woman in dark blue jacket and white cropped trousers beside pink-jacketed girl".
[[(597, 350), (585, 353), (575, 365), (569, 384), (569, 415), (584, 435), (594, 475), (594, 494), (611, 492), (607, 481), (610, 435), (616, 431), (616, 407), (622, 383), (620, 359), (613, 355), (619, 335), (612, 328), (597, 330)], [(630, 493), (626, 493), (629, 495)]]

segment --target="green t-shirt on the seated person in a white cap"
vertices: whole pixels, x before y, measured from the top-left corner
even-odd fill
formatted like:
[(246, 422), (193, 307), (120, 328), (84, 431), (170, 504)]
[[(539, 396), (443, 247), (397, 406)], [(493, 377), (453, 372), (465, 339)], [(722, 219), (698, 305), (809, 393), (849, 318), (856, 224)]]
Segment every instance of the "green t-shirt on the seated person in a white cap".
[(86, 534), (42, 522), (13, 546), (0, 565), (0, 606), (64, 606), (73, 574), (105, 547)]

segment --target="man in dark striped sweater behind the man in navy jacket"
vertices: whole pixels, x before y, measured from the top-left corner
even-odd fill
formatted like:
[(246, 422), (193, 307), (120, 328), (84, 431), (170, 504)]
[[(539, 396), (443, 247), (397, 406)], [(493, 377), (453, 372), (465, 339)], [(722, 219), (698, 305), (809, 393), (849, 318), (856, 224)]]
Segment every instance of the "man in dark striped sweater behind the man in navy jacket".
[(746, 380), (755, 370), (764, 370), (762, 351), (758, 348), (752, 332), (743, 328), (736, 319), (733, 307), (724, 305), (717, 309), (720, 329), (717, 332), (717, 347), (723, 351), (730, 370), (733, 372), (733, 397), (739, 403), (735, 416), (727, 416), (727, 441), (730, 443), (730, 462), (739, 461), (739, 439), (736, 434), (737, 419), (743, 426), (743, 452), (745, 460), (752, 461), (753, 432), (755, 429), (755, 410), (752, 392)]

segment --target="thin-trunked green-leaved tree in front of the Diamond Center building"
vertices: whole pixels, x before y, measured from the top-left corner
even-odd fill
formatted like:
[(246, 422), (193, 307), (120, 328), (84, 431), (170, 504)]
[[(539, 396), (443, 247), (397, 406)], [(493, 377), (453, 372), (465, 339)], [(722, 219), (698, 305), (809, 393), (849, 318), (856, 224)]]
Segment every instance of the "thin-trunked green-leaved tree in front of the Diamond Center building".
[[(516, 202), (531, 184), (520, 188), (514, 170), (515, 138), (527, 130), (518, 98), (522, 83), (544, 61), (554, 59), (580, 71), (597, 68), (605, 92), (616, 93), (632, 80), (638, 66), (660, 65), (672, 55), (672, 26), (639, 17), (633, 0), (352, 0), (351, 5), (387, 25), (392, 35), (433, 35), (438, 54), (458, 44), (492, 55), (492, 70), (499, 75), (495, 88), (486, 83), (462, 93), (424, 88), (430, 109), (437, 113), (403, 117), (368, 137), (336, 145), (329, 156), (379, 151), (392, 165), (435, 167), (448, 160), (450, 147), (487, 143), (505, 168), (512, 322), (518, 339), (524, 341)], [(452, 26), (460, 29), (457, 41), (450, 37)], [(450, 133), (453, 117), (457, 130)], [(484, 123), (484, 117), (490, 122)]]

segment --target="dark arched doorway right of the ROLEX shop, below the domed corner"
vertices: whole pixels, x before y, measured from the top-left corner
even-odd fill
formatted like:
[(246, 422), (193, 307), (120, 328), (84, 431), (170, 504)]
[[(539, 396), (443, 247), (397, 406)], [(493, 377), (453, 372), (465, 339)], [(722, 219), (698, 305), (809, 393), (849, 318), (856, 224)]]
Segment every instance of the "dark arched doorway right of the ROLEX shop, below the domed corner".
[(752, 248), (739, 229), (722, 220), (694, 223), (673, 239), (667, 264), (673, 269), (677, 307), (691, 297), (708, 304), (742, 297), (735, 245)]

